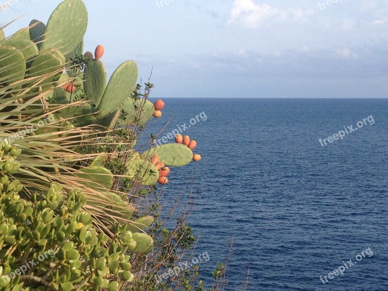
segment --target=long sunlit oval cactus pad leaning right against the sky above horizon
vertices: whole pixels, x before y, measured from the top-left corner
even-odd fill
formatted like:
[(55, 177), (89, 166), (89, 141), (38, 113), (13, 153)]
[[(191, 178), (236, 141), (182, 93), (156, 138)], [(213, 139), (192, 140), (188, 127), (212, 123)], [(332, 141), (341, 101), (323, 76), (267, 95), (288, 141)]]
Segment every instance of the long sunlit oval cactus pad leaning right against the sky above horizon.
[(106, 116), (117, 111), (132, 93), (137, 81), (137, 66), (133, 61), (121, 64), (113, 73), (111, 80), (98, 104), (97, 111)]

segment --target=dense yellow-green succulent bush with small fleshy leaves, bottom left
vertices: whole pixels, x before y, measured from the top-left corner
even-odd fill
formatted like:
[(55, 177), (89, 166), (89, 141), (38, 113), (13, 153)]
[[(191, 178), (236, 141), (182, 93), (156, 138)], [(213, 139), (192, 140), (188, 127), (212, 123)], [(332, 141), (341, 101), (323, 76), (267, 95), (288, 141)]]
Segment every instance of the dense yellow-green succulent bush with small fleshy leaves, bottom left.
[[(114, 224), (113, 238), (99, 232), (81, 208), (86, 196), (78, 190), (64, 195), (51, 183), (44, 193), (23, 199), (23, 185), (9, 175), (20, 164), (21, 150), (0, 144), (0, 290), (118, 290), (112, 275), (132, 281), (130, 256), (149, 251), (153, 240), (130, 229), (145, 229), (153, 219), (132, 225)], [(136, 229), (134, 229), (136, 230)], [(30, 264), (26, 264), (30, 262)]]

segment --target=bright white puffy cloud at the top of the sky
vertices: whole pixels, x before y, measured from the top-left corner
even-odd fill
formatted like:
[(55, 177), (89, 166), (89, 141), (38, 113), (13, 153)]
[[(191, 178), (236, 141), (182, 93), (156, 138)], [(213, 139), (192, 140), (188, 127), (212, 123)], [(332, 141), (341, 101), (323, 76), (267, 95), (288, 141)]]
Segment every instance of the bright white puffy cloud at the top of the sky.
[(268, 4), (255, 4), (253, 0), (235, 0), (230, 10), (228, 23), (258, 29), (271, 22), (308, 21), (313, 10), (278, 9)]

